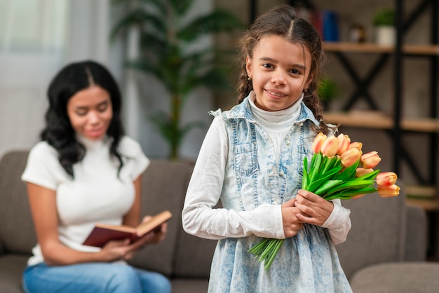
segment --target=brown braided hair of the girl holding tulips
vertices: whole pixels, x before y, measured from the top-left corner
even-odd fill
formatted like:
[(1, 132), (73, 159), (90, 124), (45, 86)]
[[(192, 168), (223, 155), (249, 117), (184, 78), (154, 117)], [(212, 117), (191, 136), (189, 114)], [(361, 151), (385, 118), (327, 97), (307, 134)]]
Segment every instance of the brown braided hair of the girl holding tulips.
[(321, 114), (323, 107), (317, 94), (320, 71), (325, 60), (320, 35), (309, 22), (297, 18), (295, 8), (290, 5), (281, 4), (260, 15), (241, 39), (240, 58), (242, 64), (238, 79), (238, 103), (241, 103), (253, 90), (252, 81), (249, 81), (247, 76), (246, 57), (252, 57), (257, 43), (262, 38), (273, 35), (282, 36), (285, 40), (298, 43), (309, 50), (311, 54), (309, 76), (312, 76), (313, 79), (304, 93), (303, 101), (306, 107), (311, 109), (316, 119), (322, 121), (320, 122), (320, 128), (316, 131), (327, 134), (328, 126), (323, 123)]

